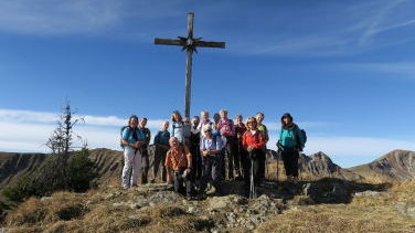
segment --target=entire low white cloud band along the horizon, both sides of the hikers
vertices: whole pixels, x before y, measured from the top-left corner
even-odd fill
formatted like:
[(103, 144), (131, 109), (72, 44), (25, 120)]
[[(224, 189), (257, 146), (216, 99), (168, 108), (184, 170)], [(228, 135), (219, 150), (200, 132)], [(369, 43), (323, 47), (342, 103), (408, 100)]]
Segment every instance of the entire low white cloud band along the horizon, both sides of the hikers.
[[(0, 109), (0, 151), (46, 152), (45, 140), (55, 128), (57, 114), (30, 110)], [(88, 116), (86, 124), (75, 127), (75, 134), (86, 139), (89, 148), (119, 148), (119, 129), (127, 119), (115, 116)], [(159, 129), (161, 119), (149, 119), (152, 135)], [(277, 127), (265, 123), (270, 130), (268, 148), (276, 149)], [(302, 121), (301, 127), (326, 127), (328, 123)], [(275, 129), (274, 129), (275, 128)], [(78, 142), (77, 145), (81, 145)], [(373, 137), (341, 137), (308, 135), (306, 153), (323, 151), (336, 157), (379, 157), (394, 149), (415, 150), (415, 141)], [(358, 161), (359, 163), (359, 161)]]

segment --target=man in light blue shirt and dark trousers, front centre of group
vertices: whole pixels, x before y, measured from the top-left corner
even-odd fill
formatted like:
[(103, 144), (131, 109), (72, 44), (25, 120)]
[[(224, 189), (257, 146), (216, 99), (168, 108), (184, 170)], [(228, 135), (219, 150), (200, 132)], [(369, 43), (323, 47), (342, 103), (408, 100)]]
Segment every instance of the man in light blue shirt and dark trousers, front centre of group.
[(221, 179), (223, 156), (222, 137), (212, 134), (212, 126), (204, 130), (204, 137), (201, 139), (200, 150), (202, 151), (203, 177), (201, 180), (200, 192), (205, 195), (208, 182), (211, 181), (216, 194), (222, 194)]

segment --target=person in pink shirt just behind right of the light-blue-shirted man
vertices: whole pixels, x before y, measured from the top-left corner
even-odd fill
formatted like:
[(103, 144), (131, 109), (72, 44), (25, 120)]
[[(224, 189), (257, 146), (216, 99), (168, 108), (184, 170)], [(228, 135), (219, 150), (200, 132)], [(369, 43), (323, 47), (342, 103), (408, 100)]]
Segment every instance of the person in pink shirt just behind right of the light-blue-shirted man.
[(236, 178), (241, 178), (240, 158), (237, 153), (237, 144), (235, 137), (235, 126), (232, 119), (227, 118), (227, 110), (220, 112), (221, 120), (217, 124), (217, 130), (226, 138), (225, 155), (227, 157), (227, 178), (233, 179), (234, 173)]

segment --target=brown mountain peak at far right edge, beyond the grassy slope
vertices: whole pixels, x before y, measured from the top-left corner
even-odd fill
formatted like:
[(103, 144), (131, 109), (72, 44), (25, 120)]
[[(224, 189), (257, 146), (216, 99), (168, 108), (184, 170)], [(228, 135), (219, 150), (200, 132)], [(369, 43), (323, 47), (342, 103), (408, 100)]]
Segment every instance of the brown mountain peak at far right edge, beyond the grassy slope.
[(350, 168), (363, 177), (389, 180), (411, 180), (415, 177), (415, 151), (394, 150), (366, 165)]

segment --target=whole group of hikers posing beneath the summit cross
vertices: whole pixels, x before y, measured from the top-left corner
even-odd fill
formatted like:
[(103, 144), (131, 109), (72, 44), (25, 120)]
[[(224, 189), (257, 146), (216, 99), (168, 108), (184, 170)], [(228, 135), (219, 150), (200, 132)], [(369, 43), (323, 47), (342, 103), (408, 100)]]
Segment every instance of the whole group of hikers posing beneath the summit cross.
[[(156, 182), (161, 165), (161, 180), (173, 183), (174, 190), (188, 199), (221, 195), (224, 191), (221, 182), (224, 179), (244, 181), (249, 195), (255, 195), (255, 187), (262, 186), (265, 179), (266, 144), (269, 140), (263, 120), (263, 113), (248, 117), (244, 124), (242, 115), (236, 115), (234, 123), (225, 109), (214, 114), (213, 120), (206, 110), (191, 120), (182, 118), (178, 110), (173, 112), (171, 127), (170, 121), (163, 121), (153, 140), (155, 170), (150, 182)], [(297, 182), (298, 158), (307, 136), (294, 123), (290, 114), (284, 114), (280, 121), (278, 151), (283, 157), (287, 180)], [(137, 186), (139, 171), (141, 183), (148, 182), (151, 133), (146, 126), (147, 118), (139, 120), (134, 115), (128, 119), (128, 125), (121, 128), (124, 189)], [(206, 192), (208, 184), (211, 189)]]

